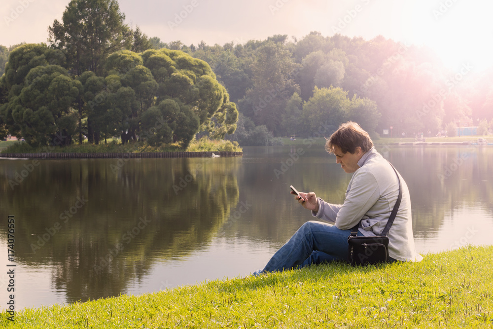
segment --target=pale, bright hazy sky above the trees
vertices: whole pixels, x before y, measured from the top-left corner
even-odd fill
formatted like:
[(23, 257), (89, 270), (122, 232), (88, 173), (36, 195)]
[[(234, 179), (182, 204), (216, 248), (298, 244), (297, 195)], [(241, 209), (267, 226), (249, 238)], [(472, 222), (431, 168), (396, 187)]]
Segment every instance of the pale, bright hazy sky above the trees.
[[(0, 44), (47, 42), (70, 0), (2, 0)], [(126, 23), (148, 37), (209, 45), (311, 31), (426, 45), (444, 65), (493, 66), (491, 0), (119, 0)]]

